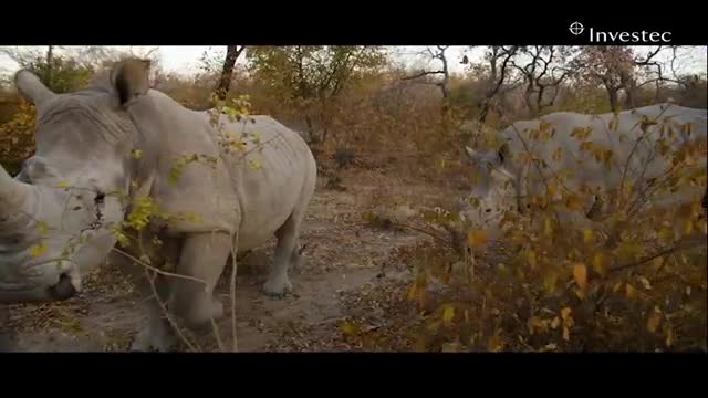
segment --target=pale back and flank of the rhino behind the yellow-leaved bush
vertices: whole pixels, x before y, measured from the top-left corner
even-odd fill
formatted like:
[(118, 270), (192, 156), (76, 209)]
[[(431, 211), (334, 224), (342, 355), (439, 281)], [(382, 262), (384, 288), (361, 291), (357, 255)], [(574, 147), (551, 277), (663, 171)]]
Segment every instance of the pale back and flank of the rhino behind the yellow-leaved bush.
[[(659, 121), (659, 124), (643, 125), (645, 117)], [(687, 123), (691, 124), (690, 135), (684, 129)], [(544, 128), (553, 132), (548, 142), (530, 138), (529, 132)], [(673, 130), (670, 138), (667, 134), (669, 129)], [(546, 166), (540, 168), (543, 178), (573, 170), (566, 186), (577, 188), (584, 185), (613, 190), (622, 184), (623, 178), (642, 176), (646, 179), (666, 170), (669, 161), (659, 156), (656, 149), (662, 130), (673, 148), (690, 139), (705, 139), (706, 111), (653, 105), (621, 112), (616, 116), (613, 113), (585, 115), (558, 112), (534, 121), (517, 122), (504, 130), (503, 137), (512, 154), (530, 150), (534, 157), (543, 159)], [(594, 150), (612, 150), (608, 163), (596, 159)], [(538, 170), (532, 168), (530, 174), (538, 175)], [(542, 189), (542, 185), (531, 182), (530, 188)]]

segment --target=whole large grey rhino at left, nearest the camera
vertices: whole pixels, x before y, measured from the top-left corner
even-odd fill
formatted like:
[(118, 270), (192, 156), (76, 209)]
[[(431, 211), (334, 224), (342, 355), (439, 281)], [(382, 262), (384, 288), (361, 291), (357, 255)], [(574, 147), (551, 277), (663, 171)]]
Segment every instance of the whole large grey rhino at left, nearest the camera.
[[(132, 275), (145, 275), (146, 263), (184, 275), (158, 274), (158, 298), (200, 327), (223, 315), (214, 289), (232, 254), (273, 237), (262, 289), (292, 291), (288, 272), (317, 179), (309, 146), (270, 116), (188, 109), (150, 88), (148, 74), (149, 63), (122, 60), (66, 94), (15, 74), (37, 107), (37, 151), (14, 178), (0, 166), (0, 303), (71, 298), (119, 252)], [(149, 302), (134, 349), (174, 344), (160, 305)]]

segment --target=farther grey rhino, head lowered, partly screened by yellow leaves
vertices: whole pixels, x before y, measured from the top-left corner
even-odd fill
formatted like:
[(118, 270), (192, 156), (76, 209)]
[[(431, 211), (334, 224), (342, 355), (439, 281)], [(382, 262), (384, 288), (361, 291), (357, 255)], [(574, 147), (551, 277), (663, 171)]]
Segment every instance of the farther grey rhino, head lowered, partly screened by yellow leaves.
[[(669, 159), (659, 155), (658, 143), (677, 149), (689, 142), (705, 142), (706, 115), (706, 109), (657, 104), (616, 115), (556, 112), (516, 122), (494, 135), (496, 144), (490, 149), (475, 150), (466, 146), (478, 180), (466, 199), (473, 198), (476, 206), (465, 203), (462, 219), (480, 229), (499, 232), (498, 221), (503, 211), (525, 212), (532, 207), (527, 199), (548, 189), (544, 180), (568, 170), (573, 174), (568, 175), (563, 184), (579, 193), (584, 214), (607, 211), (623, 178), (646, 188), (670, 167)], [(598, 150), (594, 153), (595, 149)], [(602, 154), (610, 154), (608, 150), (612, 155), (605, 164)], [(535, 160), (524, 160), (528, 154)], [(600, 161), (595, 155), (600, 155)], [(705, 153), (697, 165), (699, 172), (705, 174)], [(696, 191), (689, 189), (681, 200), (693, 200), (704, 193), (705, 187)], [(677, 198), (664, 199), (671, 202)], [(586, 220), (583, 217), (579, 221)]]

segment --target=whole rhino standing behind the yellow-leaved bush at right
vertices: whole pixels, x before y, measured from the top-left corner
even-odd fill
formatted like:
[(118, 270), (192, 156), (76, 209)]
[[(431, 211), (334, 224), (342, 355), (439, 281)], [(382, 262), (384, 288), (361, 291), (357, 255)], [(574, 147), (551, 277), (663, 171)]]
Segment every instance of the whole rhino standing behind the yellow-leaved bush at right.
[[(657, 104), (617, 114), (558, 112), (513, 123), (487, 137), (491, 148), (466, 147), (478, 178), (470, 192), (473, 206), (462, 216), (493, 229), (504, 212), (528, 212), (549, 200), (572, 199), (572, 208), (594, 218), (623, 206), (637, 210), (700, 198), (706, 121), (706, 109)], [(687, 158), (693, 160), (684, 164)], [(693, 182), (702, 178), (702, 184), (687, 184), (679, 192), (674, 189), (679, 187), (659, 187), (671, 174)]]

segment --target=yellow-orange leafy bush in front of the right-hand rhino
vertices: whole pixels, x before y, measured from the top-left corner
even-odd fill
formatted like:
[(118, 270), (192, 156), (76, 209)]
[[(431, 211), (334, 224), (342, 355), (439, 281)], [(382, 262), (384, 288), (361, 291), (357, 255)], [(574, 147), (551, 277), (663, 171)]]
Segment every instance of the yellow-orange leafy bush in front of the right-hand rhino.
[[(667, 150), (670, 172), (647, 190), (627, 179), (592, 221), (561, 176), (530, 212), (504, 211), (499, 237), (430, 214), (466, 247), (418, 265), (408, 298), (430, 314), (419, 348), (707, 350), (706, 151), (705, 138)], [(434, 282), (448, 293), (433, 296)]]

